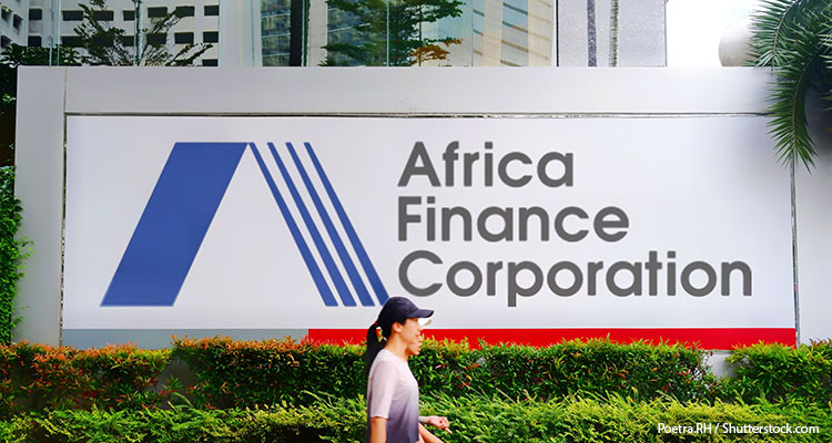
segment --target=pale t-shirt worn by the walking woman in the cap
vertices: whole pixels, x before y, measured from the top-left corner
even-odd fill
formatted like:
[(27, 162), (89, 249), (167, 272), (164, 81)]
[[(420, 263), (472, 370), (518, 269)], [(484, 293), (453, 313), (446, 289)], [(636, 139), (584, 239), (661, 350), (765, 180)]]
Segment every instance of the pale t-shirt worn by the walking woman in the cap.
[(369, 419), (387, 419), (388, 443), (419, 440), (419, 385), (407, 363), (393, 352), (378, 351), (367, 381), (367, 441)]

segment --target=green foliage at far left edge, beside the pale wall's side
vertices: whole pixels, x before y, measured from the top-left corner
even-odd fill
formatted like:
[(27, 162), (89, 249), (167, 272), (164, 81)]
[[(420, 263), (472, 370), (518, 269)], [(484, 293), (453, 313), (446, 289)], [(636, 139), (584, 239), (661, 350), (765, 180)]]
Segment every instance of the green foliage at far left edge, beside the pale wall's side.
[(18, 240), (20, 200), (14, 197), (14, 167), (0, 167), (0, 344), (11, 342), (11, 330), (19, 319), (14, 312), (21, 261), (29, 255), (27, 241)]

